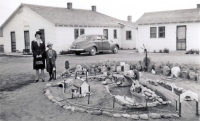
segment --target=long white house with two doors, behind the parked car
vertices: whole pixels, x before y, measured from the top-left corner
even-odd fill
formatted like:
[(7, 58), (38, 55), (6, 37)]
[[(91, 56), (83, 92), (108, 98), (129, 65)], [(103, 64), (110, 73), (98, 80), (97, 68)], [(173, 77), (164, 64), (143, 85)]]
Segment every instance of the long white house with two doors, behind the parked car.
[[(51, 42), (59, 52), (67, 50), (81, 34), (104, 34), (119, 43), (120, 48), (136, 47), (136, 27), (96, 11), (74, 9), (72, 3), (66, 8), (21, 4), (0, 27), (5, 52), (30, 49), (35, 32), (41, 31), (42, 39)], [(1, 33), (1, 31), (0, 31)], [(1, 35), (1, 34), (0, 34)]]

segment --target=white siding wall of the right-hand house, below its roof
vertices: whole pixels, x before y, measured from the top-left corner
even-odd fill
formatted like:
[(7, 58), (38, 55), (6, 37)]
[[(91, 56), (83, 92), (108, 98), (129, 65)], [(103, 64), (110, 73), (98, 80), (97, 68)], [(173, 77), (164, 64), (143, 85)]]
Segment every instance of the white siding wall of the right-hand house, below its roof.
[[(179, 23), (179, 24), (156, 24), (156, 25), (139, 25), (138, 26), (138, 37), (137, 37), (137, 48), (141, 52), (141, 47), (147, 45), (151, 52), (160, 49), (168, 48), (170, 51), (177, 50), (176, 48), (176, 37), (177, 37), (177, 26), (186, 25), (186, 50), (189, 49), (200, 49), (200, 23)], [(150, 38), (150, 27), (165, 26), (165, 38), (157, 37)]]

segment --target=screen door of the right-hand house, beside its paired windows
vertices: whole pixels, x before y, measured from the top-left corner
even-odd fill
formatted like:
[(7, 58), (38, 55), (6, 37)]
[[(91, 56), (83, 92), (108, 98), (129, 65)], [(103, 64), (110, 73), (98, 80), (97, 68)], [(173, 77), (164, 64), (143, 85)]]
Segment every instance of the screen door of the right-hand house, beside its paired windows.
[(186, 26), (177, 26), (177, 50), (186, 50)]

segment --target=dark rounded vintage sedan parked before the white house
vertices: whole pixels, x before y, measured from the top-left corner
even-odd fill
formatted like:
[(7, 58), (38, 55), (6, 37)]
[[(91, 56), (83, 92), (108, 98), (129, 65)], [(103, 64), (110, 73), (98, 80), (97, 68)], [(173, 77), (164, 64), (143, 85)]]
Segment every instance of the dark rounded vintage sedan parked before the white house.
[(89, 52), (90, 55), (96, 55), (105, 51), (117, 53), (119, 45), (112, 40), (109, 41), (104, 35), (80, 35), (70, 46), (70, 51), (76, 55)]

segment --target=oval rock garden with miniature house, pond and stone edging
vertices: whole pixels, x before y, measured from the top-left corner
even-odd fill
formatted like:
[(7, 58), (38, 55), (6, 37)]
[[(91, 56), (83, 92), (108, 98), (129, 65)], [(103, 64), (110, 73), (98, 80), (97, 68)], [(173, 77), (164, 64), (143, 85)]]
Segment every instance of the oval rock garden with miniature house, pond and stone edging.
[[(154, 63), (147, 57), (138, 62), (80, 63), (57, 74), (57, 80), (47, 83), (44, 92), (53, 103), (72, 112), (144, 120), (179, 118), (177, 100), (188, 90), (168, 80), (199, 81), (199, 74), (199, 67)], [(185, 101), (194, 100), (186, 97)]]

